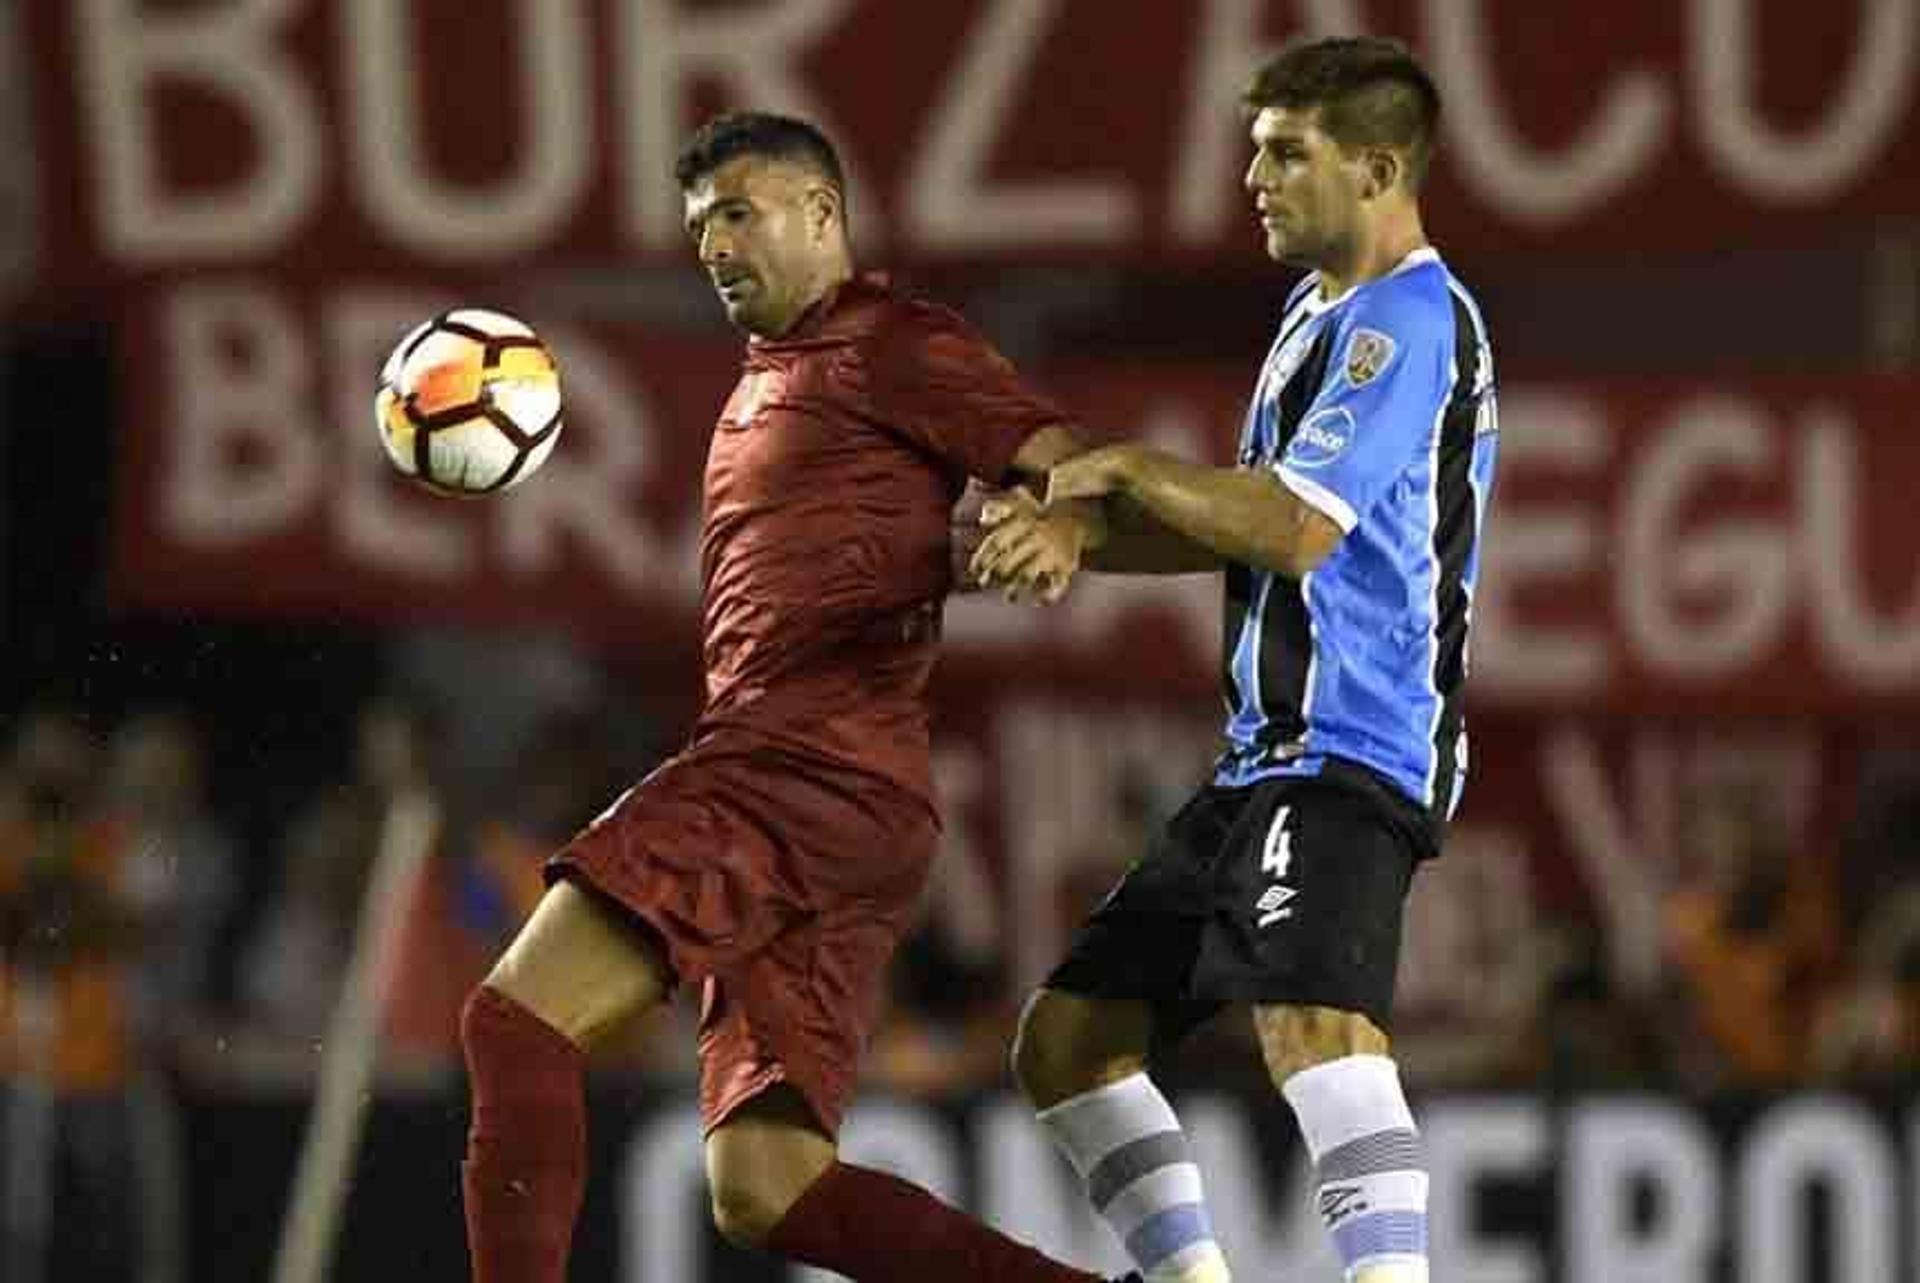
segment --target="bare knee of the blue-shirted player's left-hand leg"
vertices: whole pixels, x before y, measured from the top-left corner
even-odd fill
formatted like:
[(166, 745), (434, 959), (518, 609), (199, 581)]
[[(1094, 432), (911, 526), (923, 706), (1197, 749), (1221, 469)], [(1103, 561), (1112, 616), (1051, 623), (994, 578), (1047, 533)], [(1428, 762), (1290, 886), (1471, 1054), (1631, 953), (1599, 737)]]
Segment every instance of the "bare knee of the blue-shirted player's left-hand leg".
[(1152, 1041), (1146, 1001), (1035, 989), (1014, 1035), (1014, 1077), (1033, 1108), (1052, 1108), (1144, 1070)]

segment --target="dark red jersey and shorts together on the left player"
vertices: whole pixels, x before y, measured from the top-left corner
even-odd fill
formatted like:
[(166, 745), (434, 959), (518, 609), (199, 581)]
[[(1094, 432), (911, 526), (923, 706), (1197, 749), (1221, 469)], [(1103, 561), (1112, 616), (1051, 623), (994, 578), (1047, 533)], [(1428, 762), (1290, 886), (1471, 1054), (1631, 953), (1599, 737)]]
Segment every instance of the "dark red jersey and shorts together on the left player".
[(703, 983), (708, 1127), (776, 1081), (839, 1126), (937, 849), (952, 505), (1056, 423), (960, 317), (877, 277), (747, 348), (707, 455), (693, 743), (549, 864)]

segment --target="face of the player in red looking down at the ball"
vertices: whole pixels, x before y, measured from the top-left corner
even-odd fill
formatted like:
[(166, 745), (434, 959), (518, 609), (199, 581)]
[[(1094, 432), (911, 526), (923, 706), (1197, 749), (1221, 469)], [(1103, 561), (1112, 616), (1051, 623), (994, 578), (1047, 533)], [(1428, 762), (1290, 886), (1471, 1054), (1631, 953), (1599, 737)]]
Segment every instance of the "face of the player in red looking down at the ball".
[(739, 156), (685, 192), (687, 236), (728, 319), (766, 338), (820, 298), (843, 254), (831, 184), (776, 157)]

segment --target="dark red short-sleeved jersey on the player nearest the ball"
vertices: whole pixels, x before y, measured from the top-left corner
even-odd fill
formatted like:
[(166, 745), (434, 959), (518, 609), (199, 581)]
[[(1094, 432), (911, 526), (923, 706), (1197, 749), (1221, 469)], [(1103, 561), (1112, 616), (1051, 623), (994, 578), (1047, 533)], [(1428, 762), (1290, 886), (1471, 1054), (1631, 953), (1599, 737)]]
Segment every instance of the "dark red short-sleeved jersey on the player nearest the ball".
[(1066, 415), (952, 311), (860, 277), (753, 340), (707, 457), (707, 738), (774, 743), (931, 807), (925, 686), (950, 509)]

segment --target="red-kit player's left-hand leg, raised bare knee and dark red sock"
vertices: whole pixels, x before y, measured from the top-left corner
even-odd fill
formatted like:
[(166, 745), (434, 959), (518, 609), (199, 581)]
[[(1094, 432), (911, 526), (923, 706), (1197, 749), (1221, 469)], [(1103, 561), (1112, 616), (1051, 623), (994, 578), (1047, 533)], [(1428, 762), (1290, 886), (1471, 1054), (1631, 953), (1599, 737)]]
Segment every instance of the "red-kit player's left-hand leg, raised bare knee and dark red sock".
[(474, 1283), (559, 1283), (586, 1181), (584, 1053), (659, 1003), (659, 947), (568, 882), (468, 995), (463, 1164)]

